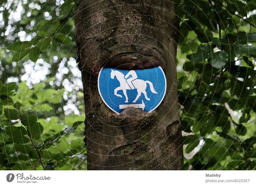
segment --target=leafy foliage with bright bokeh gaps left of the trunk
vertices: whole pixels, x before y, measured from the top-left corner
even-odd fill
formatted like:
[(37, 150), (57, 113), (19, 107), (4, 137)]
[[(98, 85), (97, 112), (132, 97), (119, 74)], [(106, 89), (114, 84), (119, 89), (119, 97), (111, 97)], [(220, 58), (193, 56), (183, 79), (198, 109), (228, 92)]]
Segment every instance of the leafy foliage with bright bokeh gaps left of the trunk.
[(86, 170), (76, 2), (25, 3), (0, 3), (0, 169)]

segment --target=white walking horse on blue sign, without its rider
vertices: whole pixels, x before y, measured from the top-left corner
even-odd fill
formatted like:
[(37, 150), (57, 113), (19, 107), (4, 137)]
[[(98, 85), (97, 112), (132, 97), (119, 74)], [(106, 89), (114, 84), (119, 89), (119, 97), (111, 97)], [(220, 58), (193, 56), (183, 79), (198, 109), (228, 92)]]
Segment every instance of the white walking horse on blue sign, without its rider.
[[(128, 103), (128, 97), (127, 97), (127, 94), (126, 94), (126, 90), (131, 90), (131, 87), (128, 85), (128, 83), (126, 82), (126, 79), (124, 78), (124, 74), (122, 74), (121, 72), (117, 71), (117, 70), (112, 70), (111, 69), (111, 74), (110, 74), (110, 77), (111, 79), (114, 79), (116, 76), (116, 79), (120, 82), (120, 87), (117, 87), (115, 90), (114, 90), (114, 94), (117, 96), (117, 97), (122, 97), (122, 95), (120, 94), (117, 94), (117, 91), (118, 90), (123, 90), (124, 92), (124, 96), (125, 96), (125, 103)], [(132, 84), (134, 85), (135, 89), (137, 89), (137, 92), (138, 92), (138, 95), (137, 97), (133, 100), (133, 103), (135, 103), (141, 93), (144, 94), (145, 98), (147, 100), (150, 100), (147, 96), (147, 92), (146, 92), (146, 88), (147, 88), (147, 83), (149, 84), (149, 87), (150, 87), (150, 90), (151, 92), (153, 92), (154, 94), (158, 94), (154, 87), (153, 87), (153, 84), (152, 82), (150, 81), (144, 81), (144, 80), (140, 80), (140, 79), (135, 79), (132, 81)]]

